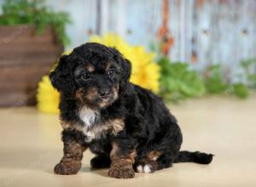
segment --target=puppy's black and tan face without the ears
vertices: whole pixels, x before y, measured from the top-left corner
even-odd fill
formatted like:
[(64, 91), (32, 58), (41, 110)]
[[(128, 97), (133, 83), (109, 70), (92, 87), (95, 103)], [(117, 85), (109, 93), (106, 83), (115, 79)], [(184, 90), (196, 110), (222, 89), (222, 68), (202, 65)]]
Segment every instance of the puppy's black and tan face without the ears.
[(118, 99), (120, 66), (114, 60), (82, 63), (73, 74), (78, 85), (76, 97), (84, 104), (103, 108)]

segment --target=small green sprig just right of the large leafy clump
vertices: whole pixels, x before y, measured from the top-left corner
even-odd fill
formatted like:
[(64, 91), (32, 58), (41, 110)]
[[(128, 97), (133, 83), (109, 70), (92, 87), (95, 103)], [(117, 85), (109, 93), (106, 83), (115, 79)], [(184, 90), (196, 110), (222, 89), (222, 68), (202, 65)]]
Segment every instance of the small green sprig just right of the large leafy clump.
[(205, 85), (209, 94), (223, 94), (228, 88), (221, 65), (211, 65), (206, 72)]

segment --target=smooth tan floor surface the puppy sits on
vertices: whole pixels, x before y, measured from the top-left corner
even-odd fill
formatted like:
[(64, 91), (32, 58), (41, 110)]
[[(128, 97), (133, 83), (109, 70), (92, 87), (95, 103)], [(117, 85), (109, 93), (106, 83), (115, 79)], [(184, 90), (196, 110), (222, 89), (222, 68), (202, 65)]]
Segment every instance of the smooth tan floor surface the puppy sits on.
[(79, 174), (59, 176), (62, 154), (58, 117), (34, 108), (0, 110), (0, 186), (256, 186), (256, 97), (207, 98), (172, 105), (183, 130), (183, 150), (212, 152), (211, 165), (179, 163), (136, 178), (108, 178), (90, 171), (84, 154)]

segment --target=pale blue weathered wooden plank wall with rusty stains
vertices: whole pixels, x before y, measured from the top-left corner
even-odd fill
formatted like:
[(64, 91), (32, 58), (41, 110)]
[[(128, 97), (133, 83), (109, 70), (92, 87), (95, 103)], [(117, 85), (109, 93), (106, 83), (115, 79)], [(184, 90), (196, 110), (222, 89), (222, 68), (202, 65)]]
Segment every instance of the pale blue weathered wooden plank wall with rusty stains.
[[(67, 11), (73, 25), (69, 48), (90, 34), (113, 31), (132, 44), (149, 47), (162, 22), (162, 0), (47, 0)], [(223, 63), (238, 70), (241, 59), (256, 56), (256, 0), (169, 0), (168, 26), (174, 37), (172, 60), (195, 69)], [(237, 71), (234, 71), (237, 73)]]

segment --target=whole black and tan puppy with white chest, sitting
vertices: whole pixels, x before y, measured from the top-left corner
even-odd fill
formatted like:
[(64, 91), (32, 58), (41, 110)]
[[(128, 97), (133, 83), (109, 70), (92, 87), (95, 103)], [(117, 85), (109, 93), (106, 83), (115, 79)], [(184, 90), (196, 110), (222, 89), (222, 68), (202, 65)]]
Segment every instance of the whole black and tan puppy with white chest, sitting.
[(130, 75), (129, 60), (99, 43), (61, 57), (49, 75), (61, 94), (64, 156), (55, 173), (78, 173), (86, 149), (96, 154), (91, 167), (110, 167), (113, 178), (153, 173), (175, 162), (212, 161), (211, 154), (180, 151), (177, 120), (158, 96), (129, 82)]

